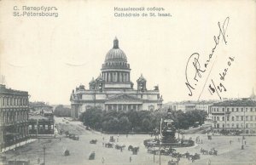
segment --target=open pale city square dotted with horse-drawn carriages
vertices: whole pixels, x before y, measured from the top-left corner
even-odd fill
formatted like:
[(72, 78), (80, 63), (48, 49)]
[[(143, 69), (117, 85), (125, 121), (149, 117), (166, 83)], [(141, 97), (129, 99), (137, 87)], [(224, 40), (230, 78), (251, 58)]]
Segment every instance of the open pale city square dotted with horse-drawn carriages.
[[(2, 154), (7, 160), (30, 161), (31, 164), (168, 164), (170, 160), (176, 160), (172, 156), (156, 155), (148, 153), (143, 145), (144, 139), (152, 139), (148, 134), (101, 134), (93, 130), (86, 130), (81, 122), (72, 122), (55, 117), (55, 124), (58, 128), (79, 135), (79, 140), (73, 140), (65, 135), (57, 136), (55, 139), (37, 139), (30, 144), (26, 144), (7, 151)], [(120, 151), (113, 148), (106, 148), (110, 136), (119, 139), (116, 144), (125, 145), (124, 150)], [(256, 164), (256, 139), (254, 136), (246, 136), (246, 145), (241, 150), (241, 136), (212, 136), (207, 139), (207, 134), (185, 134), (185, 139), (200, 137), (200, 144), (192, 147), (177, 148), (177, 152), (189, 154), (201, 154), (201, 148), (207, 151), (215, 148), (217, 156), (202, 155), (201, 159), (192, 162), (187, 158), (181, 158), (179, 164)], [(90, 144), (91, 139), (96, 139), (96, 144)], [(231, 142), (230, 142), (231, 141)], [(137, 155), (128, 151), (128, 146), (138, 146)], [(63, 152), (68, 150), (69, 156), (64, 156)], [(157, 149), (156, 149), (157, 150)], [(95, 160), (89, 160), (90, 153), (95, 151)]]

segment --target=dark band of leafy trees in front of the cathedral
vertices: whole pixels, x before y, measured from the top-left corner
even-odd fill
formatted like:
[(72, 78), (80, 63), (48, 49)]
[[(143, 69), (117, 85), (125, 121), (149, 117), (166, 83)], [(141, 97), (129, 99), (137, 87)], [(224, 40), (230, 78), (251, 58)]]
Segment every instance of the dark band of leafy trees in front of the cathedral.
[[(207, 117), (207, 112), (199, 110), (171, 113), (177, 129), (201, 125)], [(153, 132), (154, 128), (160, 129), (160, 120), (166, 117), (164, 111), (102, 111), (92, 108), (82, 113), (80, 121), (90, 128), (107, 132)]]

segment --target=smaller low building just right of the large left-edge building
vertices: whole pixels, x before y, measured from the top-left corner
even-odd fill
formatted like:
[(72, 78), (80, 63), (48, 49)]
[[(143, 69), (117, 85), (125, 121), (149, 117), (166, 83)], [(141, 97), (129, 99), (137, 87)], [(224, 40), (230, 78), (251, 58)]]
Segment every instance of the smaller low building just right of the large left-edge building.
[(29, 134), (54, 134), (53, 107), (44, 102), (31, 102), (29, 113)]

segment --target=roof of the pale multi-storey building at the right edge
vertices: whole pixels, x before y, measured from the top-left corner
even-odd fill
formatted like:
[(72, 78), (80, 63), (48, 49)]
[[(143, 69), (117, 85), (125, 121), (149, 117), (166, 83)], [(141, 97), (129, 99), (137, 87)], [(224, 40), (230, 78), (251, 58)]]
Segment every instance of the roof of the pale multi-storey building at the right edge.
[(213, 106), (256, 106), (255, 100), (226, 100), (214, 103)]

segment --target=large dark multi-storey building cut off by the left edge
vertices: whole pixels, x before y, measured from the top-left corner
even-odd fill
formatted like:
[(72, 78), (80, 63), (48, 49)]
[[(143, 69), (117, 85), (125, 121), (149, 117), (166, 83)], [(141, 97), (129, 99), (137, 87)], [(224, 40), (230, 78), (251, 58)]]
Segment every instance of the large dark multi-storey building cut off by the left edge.
[(0, 84), (0, 149), (15, 145), (29, 137), (29, 101), (26, 91)]

